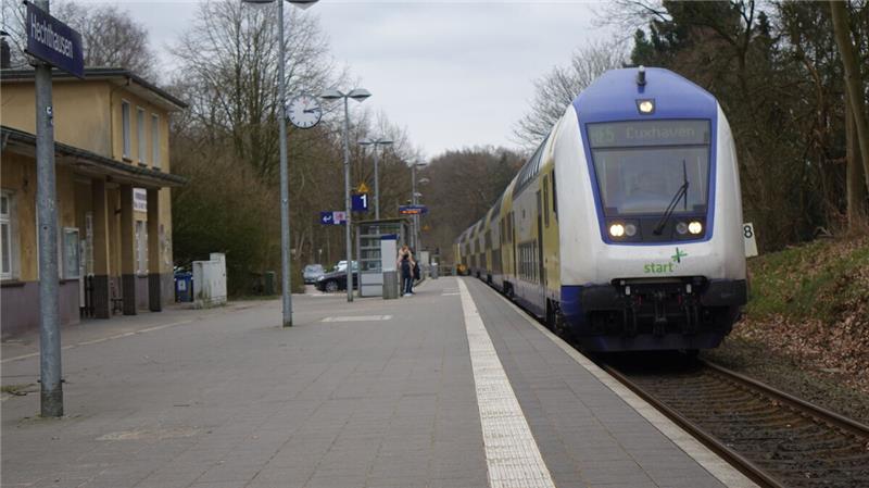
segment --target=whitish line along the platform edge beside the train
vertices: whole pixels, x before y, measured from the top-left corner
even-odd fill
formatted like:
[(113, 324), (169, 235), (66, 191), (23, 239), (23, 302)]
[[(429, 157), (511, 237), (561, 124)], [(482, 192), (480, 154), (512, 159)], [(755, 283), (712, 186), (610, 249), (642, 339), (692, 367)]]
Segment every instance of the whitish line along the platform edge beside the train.
[(702, 445), (697, 439), (692, 437), (690, 434), (684, 431), (681, 427), (676, 425), (672, 421), (667, 418), (663, 413), (655, 410), (654, 406), (648, 404), (645, 400), (637, 396), (633, 391), (628, 389), (625, 385), (620, 384), (614, 377), (606, 374), (605, 371), (597, 367), (594, 362), (590, 359), (585, 358), (581, 352), (574, 349), (570, 345), (562, 340), (561, 337), (556, 336), (546, 327), (540, 325), (539, 322), (532, 320), (528, 316), (527, 313), (521, 311), (518, 306), (516, 306), (512, 301), (504, 298), (502, 295), (498, 295), (499, 298), (504, 300), (504, 302), (513, 308), (513, 310), (525, 317), (529, 324), (534, 326), (538, 330), (543, 333), (544, 336), (549, 337), (550, 340), (555, 342), (556, 346), (562, 348), (564, 352), (567, 353), (570, 358), (574, 359), (577, 363), (579, 363), (582, 367), (588, 370), (597, 380), (603, 383), (607, 388), (613, 390), (614, 393), (618, 395), (626, 403), (628, 403), (633, 410), (635, 410), (640, 415), (642, 415), (650, 424), (655, 426), (662, 434), (664, 434), (668, 439), (670, 439), (675, 445), (679, 447), (682, 451), (685, 452), (689, 456), (691, 456), (694, 461), (697, 462), (701, 466), (703, 466), (706, 471), (709, 472), (713, 476), (718, 478), (719, 481), (725, 484), (730, 488), (757, 488), (757, 485), (745, 477), (742, 473), (736, 471), (733, 466), (728, 464), (725, 460), (722, 460), (718, 454), (710, 451), (706, 446)]

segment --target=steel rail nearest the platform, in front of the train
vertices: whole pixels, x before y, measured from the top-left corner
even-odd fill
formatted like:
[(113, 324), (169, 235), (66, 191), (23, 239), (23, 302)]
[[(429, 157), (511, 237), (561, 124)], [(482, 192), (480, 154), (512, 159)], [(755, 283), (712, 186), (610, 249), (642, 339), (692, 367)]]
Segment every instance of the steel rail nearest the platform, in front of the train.
[(671, 420), (677, 425), (685, 429), (694, 438), (701, 441), (701, 443), (709, 448), (716, 454), (723, 458), (727, 462), (733, 465), (733, 467), (735, 467), (739, 472), (747, 476), (751, 480), (768, 488), (785, 488), (785, 485), (782, 485), (778, 479), (772, 478), (764, 470), (758, 467), (748, 459), (746, 459), (739, 452), (734, 451), (733, 449), (730, 449), (729, 447), (727, 447), (727, 445), (725, 445), (717, 438), (707, 434), (705, 430), (703, 430), (703, 428), (691, 422), (688, 417), (683, 416), (676, 410), (671, 409), (663, 401), (659, 401), (651, 393), (647, 393), (637, 384), (631, 381), (627, 376), (616, 371), (616, 368), (614, 368), (613, 366), (609, 366), (608, 364), (600, 364), (600, 366), (601, 368), (606, 371), (609, 375), (612, 375), (614, 378), (616, 378), (619, 383), (621, 383), (622, 385), (628, 387), (631, 391), (640, 396), (643, 400), (651, 403), (652, 406), (657, 409), (669, 420)]

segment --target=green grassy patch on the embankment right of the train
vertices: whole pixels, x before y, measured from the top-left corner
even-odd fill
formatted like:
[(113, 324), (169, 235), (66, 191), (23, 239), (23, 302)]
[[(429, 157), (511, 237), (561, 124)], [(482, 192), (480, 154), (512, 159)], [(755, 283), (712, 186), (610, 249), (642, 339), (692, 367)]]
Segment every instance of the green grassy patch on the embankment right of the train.
[(816, 240), (748, 261), (753, 318), (840, 320), (869, 301), (869, 239)]

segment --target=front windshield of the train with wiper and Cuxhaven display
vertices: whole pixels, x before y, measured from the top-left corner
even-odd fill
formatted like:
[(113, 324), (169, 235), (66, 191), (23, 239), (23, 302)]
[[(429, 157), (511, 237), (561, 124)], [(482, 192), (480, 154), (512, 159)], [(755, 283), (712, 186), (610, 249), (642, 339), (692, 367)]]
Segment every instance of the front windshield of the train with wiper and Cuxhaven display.
[(706, 213), (709, 121), (589, 124), (588, 133), (606, 216), (662, 214), (685, 182), (673, 213)]

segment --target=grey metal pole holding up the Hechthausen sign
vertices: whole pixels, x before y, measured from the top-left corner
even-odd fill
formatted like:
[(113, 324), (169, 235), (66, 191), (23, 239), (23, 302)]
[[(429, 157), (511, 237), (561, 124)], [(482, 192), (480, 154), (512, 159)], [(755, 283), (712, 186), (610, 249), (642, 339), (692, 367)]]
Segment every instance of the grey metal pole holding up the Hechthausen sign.
[[(49, 12), (48, 0), (36, 7)], [(36, 202), (39, 221), (39, 380), (40, 413), (63, 416), (58, 273), (58, 209), (54, 176), (54, 123), (51, 66), (36, 65)]]

